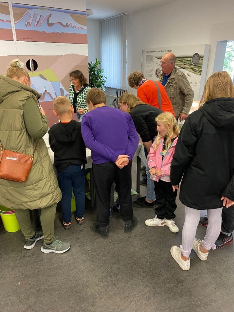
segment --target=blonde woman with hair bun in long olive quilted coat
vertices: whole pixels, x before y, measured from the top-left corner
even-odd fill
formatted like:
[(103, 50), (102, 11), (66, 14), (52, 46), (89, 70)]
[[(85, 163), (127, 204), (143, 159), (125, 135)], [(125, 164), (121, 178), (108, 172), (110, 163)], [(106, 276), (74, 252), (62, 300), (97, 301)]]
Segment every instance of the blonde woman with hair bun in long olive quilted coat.
[[(26, 238), (24, 248), (33, 248), (36, 241), (44, 237), (41, 248), (46, 251), (42, 249), (41, 251), (56, 252), (48, 251), (46, 247), (57, 241), (54, 236), (54, 218), (56, 204), (61, 200), (57, 178), (46, 144), (42, 139), (48, 130), (48, 120), (38, 103), (40, 94), (30, 87), (30, 77), (23, 69), (22, 62), (14, 60), (10, 65), (7, 77), (0, 75), (2, 146), (4, 149), (32, 155), (37, 140), (38, 145), (31, 171), (25, 182), (0, 179), (0, 204), (15, 210), (21, 231)], [(41, 208), (43, 233), (35, 232), (31, 226), (29, 209), (38, 208)], [(70, 248), (70, 244), (67, 245)], [(58, 246), (56, 250), (59, 250)]]

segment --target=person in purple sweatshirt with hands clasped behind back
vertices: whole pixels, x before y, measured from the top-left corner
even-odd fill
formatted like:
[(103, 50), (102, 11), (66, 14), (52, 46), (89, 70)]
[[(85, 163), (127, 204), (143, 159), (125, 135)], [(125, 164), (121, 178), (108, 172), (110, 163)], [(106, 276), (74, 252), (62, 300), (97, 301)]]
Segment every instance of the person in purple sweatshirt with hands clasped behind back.
[(133, 216), (131, 168), (139, 137), (129, 114), (105, 106), (101, 89), (91, 88), (86, 102), (90, 111), (83, 117), (81, 133), (91, 150), (97, 207), (96, 222), (90, 229), (102, 238), (108, 237), (110, 190), (115, 181), (124, 232), (129, 233), (138, 223)]

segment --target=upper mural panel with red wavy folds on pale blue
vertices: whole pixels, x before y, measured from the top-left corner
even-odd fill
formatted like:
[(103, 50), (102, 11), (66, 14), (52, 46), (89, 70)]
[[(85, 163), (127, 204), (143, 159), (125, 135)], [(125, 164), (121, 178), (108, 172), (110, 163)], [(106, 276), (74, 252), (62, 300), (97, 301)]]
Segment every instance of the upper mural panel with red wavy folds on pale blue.
[(12, 3), (17, 41), (87, 44), (86, 12)]

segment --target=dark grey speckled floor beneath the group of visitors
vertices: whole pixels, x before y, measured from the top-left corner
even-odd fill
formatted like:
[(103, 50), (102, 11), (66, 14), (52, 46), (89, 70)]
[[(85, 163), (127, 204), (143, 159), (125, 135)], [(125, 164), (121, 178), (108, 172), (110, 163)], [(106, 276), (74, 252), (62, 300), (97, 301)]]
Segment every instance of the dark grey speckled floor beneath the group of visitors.
[[(133, 188), (134, 181), (133, 174)], [(139, 195), (146, 195), (146, 187)], [(61, 255), (42, 253), (41, 241), (25, 250), (22, 233), (6, 232), (0, 221), (1, 312), (234, 311), (233, 244), (210, 251), (207, 261), (192, 251), (189, 271), (171, 257), (171, 246), (181, 243), (184, 208), (179, 201), (175, 221), (180, 232), (147, 227), (144, 221), (154, 217), (154, 209), (134, 208), (139, 221), (134, 231), (124, 233), (116, 212), (106, 240), (90, 231), (95, 211), (89, 201), (86, 206), (84, 225), (78, 226), (73, 216), (70, 231), (63, 229), (58, 209), (56, 235), (71, 243)], [(205, 231), (198, 226), (197, 238)]]

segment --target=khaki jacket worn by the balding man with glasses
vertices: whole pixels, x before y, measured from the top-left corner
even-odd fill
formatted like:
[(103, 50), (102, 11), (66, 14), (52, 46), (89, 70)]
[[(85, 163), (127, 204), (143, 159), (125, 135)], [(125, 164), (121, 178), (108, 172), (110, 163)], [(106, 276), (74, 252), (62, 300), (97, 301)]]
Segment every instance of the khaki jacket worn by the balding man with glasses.
[[(159, 74), (158, 81), (160, 83), (163, 81), (163, 72)], [(179, 117), (180, 113), (188, 114), (193, 104), (194, 92), (184, 73), (177, 67), (173, 68), (165, 89), (172, 102), (176, 118)]]

